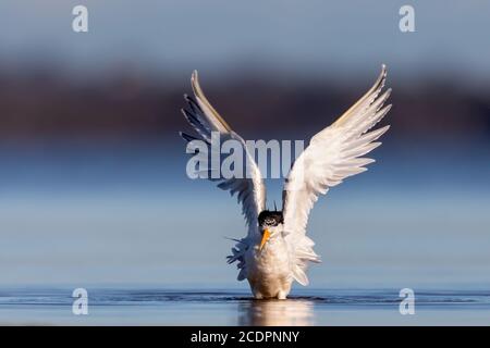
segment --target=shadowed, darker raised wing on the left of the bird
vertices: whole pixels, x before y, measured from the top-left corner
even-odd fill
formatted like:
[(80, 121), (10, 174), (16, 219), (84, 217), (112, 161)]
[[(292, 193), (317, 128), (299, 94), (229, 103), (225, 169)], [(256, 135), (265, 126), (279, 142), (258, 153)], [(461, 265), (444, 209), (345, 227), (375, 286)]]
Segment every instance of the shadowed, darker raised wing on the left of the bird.
[[(242, 212), (248, 225), (248, 236), (252, 234), (258, 234), (258, 214), (266, 208), (266, 187), (264, 185), (260, 171), (255, 163), (254, 158), (247, 151), (244, 139), (232, 130), (228, 123), (206, 99), (199, 86), (196, 71), (194, 71), (192, 75), (191, 83), (193, 86), (195, 100), (188, 96), (185, 96), (188, 108), (182, 109), (182, 113), (197, 132), (200, 140), (206, 141), (209, 152), (213, 150), (219, 151), (219, 149), (212, 149), (213, 147), (210, 146), (212, 136), (211, 133), (217, 132), (219, 133), (221, 140), (234, 139), (240, 141), (247, 157), (247, 165), (245, 165), (246, 172), (244, 173), (244, 177), (224, 178), (221, 175), (213, 177), (213, 173), (220, 173), (218, 167), (208, 167), (206, 176), (211, 181), (219, 182), (218, 187), (224, 190), (230, 190), (232, 196), (237, 194), (237, 200), (242, 203)], [(182, 132), (181, 136), (188, 142), (198, 139), (197, 137)], [(218, 156), (221, 157), (221, 153)]]

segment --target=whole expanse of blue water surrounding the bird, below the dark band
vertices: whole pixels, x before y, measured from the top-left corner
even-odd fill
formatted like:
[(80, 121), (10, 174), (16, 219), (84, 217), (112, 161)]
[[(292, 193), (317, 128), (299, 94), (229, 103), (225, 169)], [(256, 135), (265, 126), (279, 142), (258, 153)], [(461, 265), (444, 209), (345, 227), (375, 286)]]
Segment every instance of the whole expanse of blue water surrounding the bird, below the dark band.
[[(240, 207), (185, 176), (182, 148), (63, 149), (0, 150), (0, 324), (490, 325), (488, 146), (380, 149), (316, 204), (316, 289), (286, 301), (235, 283), (223, 236), (246, 233)], [(59, 284), (87, 287), (88, 315)], [(415, 315), (399, 312), (403, 287)]]

